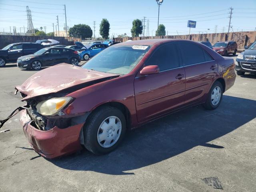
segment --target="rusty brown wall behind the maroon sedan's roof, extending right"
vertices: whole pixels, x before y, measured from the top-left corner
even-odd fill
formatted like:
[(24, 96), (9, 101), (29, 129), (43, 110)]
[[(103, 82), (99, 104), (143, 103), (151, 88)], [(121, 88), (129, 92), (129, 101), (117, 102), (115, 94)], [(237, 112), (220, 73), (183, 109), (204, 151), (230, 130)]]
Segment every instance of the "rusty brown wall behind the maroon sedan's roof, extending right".
[(238, 49), (244, 49), (244, 46), (250, 45), (256, 41), (256, 31), (247, 32), (230, 32), (227, 33), (210, 33), (210, 34), (191, 34), (191, 35), (168, 35), (168, 36), (148, 36), (148, 37), (126, 37), (126, 38), (115, 38), (116, 42), (126, 42), (127, 40), (142, 40), (142, 39), (188, 39), (193, 41), (209, 41), (215, 44), (218, 41), (236, 41)]

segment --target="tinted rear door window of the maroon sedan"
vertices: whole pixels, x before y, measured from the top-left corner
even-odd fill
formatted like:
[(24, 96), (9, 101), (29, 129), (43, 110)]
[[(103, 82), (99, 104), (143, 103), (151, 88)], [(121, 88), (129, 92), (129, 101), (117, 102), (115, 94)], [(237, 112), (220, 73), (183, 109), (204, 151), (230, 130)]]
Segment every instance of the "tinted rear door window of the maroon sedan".
[(180, 48), (182, 51), (182, 61), (184, 66), (213, 60), (206, 51), (196, 44), (181, 42)]

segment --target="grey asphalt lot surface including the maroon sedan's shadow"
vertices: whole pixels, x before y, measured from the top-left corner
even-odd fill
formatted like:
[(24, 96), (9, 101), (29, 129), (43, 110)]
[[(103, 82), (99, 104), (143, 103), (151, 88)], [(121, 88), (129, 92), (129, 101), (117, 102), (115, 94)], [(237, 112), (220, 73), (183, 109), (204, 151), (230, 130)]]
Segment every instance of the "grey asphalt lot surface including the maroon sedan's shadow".
[[(34, 73), (15, 63), (0, 68), (0, 119), (24, 104), (14, 95), (14, 86)], [(0, 133), (1, 192), (218, 191), (202, 180), (211, 176), (217, 176), (227, 192), (256, 189), (252, 74), (237, 76), (216, 110), (195, 106), (146, 124), (127, 132), (119, 148), (102, 156), (84, 149), (48, 160), (28, 144), (19, 115), (5, 129), (10, 131)]]

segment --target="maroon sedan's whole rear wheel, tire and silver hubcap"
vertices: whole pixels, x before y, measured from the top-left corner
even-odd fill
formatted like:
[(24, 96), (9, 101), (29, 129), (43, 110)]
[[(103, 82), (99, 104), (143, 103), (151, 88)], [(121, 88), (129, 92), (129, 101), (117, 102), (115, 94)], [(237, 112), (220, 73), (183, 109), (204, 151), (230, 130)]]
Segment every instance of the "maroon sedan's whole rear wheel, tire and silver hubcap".
[(223, 87), (219, 81), (214, 82), (210, 91), (208, 92), (206, 102), (203, 104), (204, 108), (208, 110), (216, 109), (222, 100)]

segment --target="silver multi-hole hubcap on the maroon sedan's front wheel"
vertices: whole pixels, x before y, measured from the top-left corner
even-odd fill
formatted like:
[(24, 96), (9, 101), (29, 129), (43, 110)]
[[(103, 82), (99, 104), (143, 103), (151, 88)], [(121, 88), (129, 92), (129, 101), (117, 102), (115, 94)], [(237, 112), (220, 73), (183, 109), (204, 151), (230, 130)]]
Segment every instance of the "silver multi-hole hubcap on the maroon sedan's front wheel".
[(122, 123), (116, 116), (109, 116), (100, 124), (97, 132), (98, 144), (104, 148), (113, 146), (119, 139)]

